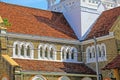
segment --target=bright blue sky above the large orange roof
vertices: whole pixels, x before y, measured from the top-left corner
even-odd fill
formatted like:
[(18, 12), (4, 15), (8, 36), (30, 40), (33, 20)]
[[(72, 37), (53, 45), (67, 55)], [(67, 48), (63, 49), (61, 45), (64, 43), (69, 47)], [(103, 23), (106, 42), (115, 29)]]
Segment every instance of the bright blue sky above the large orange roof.
[[(47, 0), (0, 0), (0, 1), (33, 8), (47, 9)], [(56, 3), (58, 3), (59, 1), (60, 0), (57, 0)]]

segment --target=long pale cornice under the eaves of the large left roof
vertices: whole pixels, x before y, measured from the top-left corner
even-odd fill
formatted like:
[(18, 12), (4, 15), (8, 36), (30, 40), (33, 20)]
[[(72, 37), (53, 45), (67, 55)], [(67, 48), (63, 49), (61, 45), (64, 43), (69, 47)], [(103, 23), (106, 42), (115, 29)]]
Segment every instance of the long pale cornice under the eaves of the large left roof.
[(28, 34), (7, 33), (7, 34), (0, 34), (0, 36), (8, 36), (8, 37), (20, 38), (20, 39), (58, 42), (58, 43), (66, 43), (66, 44), (75, 44), (75, 45), (81, 44), (81, 42), (79, 40), (72, 40), (72, 39), (65, 39), (65, 38), (54, 38), (54, 37), (46, 37), (46, 36), (37, 36), (37, 35), (28, 35)]

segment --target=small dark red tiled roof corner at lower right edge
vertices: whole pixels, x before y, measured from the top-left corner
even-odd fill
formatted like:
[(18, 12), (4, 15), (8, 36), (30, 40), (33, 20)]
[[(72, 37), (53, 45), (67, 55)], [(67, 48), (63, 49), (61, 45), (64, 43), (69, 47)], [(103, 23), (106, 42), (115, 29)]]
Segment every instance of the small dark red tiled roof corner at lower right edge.
[(116, 56), (110, 63), (108, 63), (104, 69), (115, 69), (118, 68), (120, 69), (120, 55)]

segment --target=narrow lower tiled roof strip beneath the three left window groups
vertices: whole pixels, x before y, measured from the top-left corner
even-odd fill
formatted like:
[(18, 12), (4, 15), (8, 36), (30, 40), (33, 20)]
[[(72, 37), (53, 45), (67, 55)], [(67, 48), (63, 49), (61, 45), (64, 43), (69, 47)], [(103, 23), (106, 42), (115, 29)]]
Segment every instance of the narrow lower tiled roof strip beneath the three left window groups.
[(40, 60), (14, 59), (25, 71), (66, 72), (76, 74), (95, 74), (83, 63), (63, 63)]

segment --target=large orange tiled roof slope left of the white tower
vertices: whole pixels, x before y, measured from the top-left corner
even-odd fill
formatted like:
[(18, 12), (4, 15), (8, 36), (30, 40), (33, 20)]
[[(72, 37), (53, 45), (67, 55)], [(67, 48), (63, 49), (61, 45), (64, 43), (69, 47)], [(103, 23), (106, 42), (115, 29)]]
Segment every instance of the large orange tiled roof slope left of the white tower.
[(61, 13), (0, 2), (0, 16), (12, 24), (8, 32), (77, 39)]

